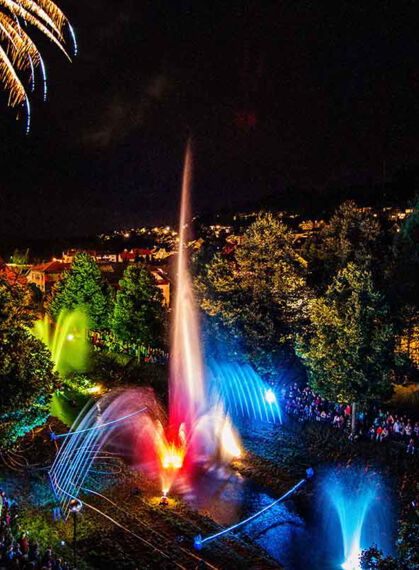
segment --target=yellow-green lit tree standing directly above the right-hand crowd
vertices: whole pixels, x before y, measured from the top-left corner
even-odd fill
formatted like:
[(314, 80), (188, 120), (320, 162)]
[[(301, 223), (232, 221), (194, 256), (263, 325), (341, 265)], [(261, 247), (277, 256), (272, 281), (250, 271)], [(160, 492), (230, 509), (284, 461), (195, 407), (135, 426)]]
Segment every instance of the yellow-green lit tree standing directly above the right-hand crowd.
[(391, 394), (393, 327), (368, 268), (349, 263), (342, 269), (325, 295), (311, 301), (310, 321), (297, 352), (317, 393), (364, 404)]

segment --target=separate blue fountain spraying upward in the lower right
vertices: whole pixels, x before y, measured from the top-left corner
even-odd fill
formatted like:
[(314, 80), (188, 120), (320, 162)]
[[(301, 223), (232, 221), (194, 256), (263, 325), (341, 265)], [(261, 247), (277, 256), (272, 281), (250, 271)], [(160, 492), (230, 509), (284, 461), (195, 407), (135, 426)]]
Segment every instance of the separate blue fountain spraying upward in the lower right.
[(320, 510), (326, 519), (326, 533), (332, 551), (341, 544), (344, 570), (360, 570), (361, 552), (372, 545), (389, 552), (390, 502), (375, 472), (339, 469), (328, 474), (321, 486)]

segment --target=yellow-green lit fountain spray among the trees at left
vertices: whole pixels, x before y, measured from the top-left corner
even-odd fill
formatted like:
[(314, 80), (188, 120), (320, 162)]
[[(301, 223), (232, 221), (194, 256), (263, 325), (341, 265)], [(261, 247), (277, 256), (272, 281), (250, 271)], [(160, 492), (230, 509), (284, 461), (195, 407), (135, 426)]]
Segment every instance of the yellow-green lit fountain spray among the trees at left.
[(68, 372), (82, 372), (86, 368), (87, 317), (81, 310), (60, 311), (57, 322), (48, 315), (36, 321), (33, 333), (48, 347), (54, 370), (66, 375)]

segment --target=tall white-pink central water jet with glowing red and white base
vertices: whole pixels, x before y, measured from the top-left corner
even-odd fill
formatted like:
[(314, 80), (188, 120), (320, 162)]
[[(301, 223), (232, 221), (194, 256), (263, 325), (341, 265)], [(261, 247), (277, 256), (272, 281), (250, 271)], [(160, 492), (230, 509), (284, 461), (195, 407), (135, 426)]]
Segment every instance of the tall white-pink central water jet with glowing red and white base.
[(206, 382), (200, 340), (199, 315), (188, 268), (192, 155), (188, 145), (182, 181), (176, 296), (172, 323), (169, 381), (169, 422), (160, 438), (159, 454), (164, 490), (183, 468), (214, 461), (230, 461), (241, 454), (238, 436), (225, 413), (221, 395)]

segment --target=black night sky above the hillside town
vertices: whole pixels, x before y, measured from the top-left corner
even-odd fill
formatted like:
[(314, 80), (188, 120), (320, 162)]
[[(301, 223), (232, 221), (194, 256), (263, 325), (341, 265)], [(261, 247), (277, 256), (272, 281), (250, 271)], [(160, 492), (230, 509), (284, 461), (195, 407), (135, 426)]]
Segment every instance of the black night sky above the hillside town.
[(419, 162), (413, 1), (58, 3), (79, 56), (40, 39), (30, 136), (1, 107), (0, 234), (173, 219), (188, 133), (201, 211)]

